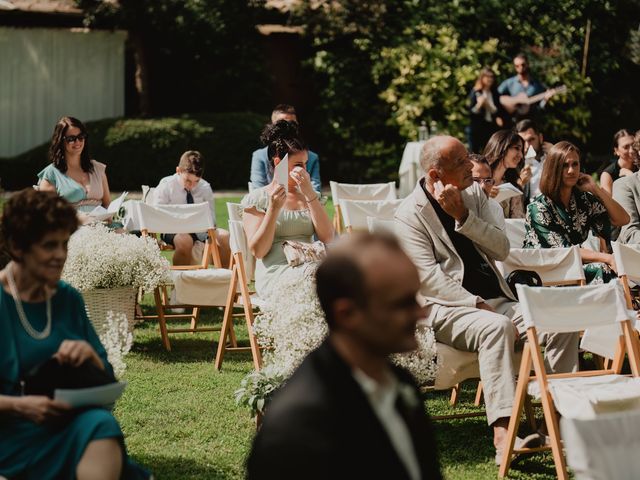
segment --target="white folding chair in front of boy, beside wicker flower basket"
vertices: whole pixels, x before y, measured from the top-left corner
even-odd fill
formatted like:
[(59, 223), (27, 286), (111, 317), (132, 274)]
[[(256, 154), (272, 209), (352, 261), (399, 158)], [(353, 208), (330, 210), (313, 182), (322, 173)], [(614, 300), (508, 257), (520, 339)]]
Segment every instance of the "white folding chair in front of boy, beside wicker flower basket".
[[(167, 285), (156, 288), (154, 292), (156, 315), (144, 316), (145, 319), (158, 319), (162, 343), (171, 350), (169, 333), (207, 332), (220, 328), (199, 328), (198, 317), (202, 307), (224, 307), (226, 305), (231, 270), (221, 268), (220, 253), (215, 241), (213, 215), (208, 203), (190, 205), (147, 205), (142, 202), (133, 204), (136, 221), (143, 235), (149, 233), (192, 233), (207, 232), (207, 241), (199, 265), (172, 266), (172, 283), (176, 292), (177, 304), (170, 303)], [(210, 269), (213, 261), (216, 268)], [(167, 313), (176, 308), (191, 308), (191, 313)], [(191, 319), (188, 328), (167, 328), (167, 320)]]

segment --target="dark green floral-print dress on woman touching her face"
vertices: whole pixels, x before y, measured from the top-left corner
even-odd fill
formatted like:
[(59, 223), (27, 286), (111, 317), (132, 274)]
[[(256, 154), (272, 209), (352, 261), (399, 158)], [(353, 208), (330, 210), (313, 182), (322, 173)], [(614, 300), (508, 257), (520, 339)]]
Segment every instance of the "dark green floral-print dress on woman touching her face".
[[(580, 245), (589, 231), (611, 239), (611, 221), (605, 206), (593, 194), (573, 189), (569, 208), (555, 203), (545, 195), (538, 195), (527, 207), (524, 248), (553, 248)], [(616, 273), (606, 263), (584, 265), (589, 284), (606, 283)]]

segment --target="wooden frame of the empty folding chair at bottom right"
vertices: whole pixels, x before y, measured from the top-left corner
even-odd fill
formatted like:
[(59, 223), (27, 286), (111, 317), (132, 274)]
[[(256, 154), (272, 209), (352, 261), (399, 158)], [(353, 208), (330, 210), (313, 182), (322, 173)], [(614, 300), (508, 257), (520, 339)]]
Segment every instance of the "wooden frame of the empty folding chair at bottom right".
[[(602, 375), (620, 374), (624, 361), (625, 351), (629, 356), (629, 364), (631, 366), (632, 375), (640, 376), (640, 345), (638, 337), (634, 333), (634, 329), (629, 320), (621, 322), (623, 334), (618, 339), (616, 354), (613, 359), (611, 368), (582, 371), (576, 373), (557, 373), (548, 374), (544, 367), (544, 360), (540, 344), (538, 343), (538, 334), (534, 326), (527, 329), (527, 343), (524, 345), (522, 353), (522, 361), (520, 363), (520, 371), (518, 373), (518, 381), (516, 384), (516, 394), (513, 401), (513, 410), (509, 419), (509, 427), (507, 433), (507, 446), (504, 449), (502, 462), (498, 472), (499, 478), (505, 478), (511, 466), (512, 455), (522, 453), (534, 453), (540, 451), (551, 450), (553, 461), (555, 464), (556, 475), (559, 480), (568, 480), (567, 465), (560, 439), (560, 428), (558, 422), (558, 414), (556, 413), (553, 398), (549, 391), (549, 380), (554, 378), (570, 378), (570, 377), (594, 377)], [(533, 366), (534, 374), (531, 375), (531, 367)], [(527, 386), (530, 381), (537, 381), (540, 387), (542, 410), (544, 414), (545, 424), (551, 441), (551, 446), (542, 446), (536, 448), (523, 448), (516, 450), (514, 448), (515, 438), (522, 415), (523, 406), (527, 397)]]

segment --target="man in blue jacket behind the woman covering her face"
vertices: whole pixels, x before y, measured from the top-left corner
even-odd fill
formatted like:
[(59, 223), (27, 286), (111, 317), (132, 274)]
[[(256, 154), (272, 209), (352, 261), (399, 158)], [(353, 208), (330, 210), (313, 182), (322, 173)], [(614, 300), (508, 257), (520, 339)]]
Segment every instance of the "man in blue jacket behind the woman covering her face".
[[(286, 120), (287, 122), (298, 122), (296, 109), (292, 105), (281, 103), (276, 105), (271, 112), (271, 123), (278, 120)], [(321, 193), (322, 182), (320, 181), (320, 159), (318, 154), (309, 150), (309, 159), (307, 160), (307, 172), (311, 176), (311, 184), (313, 189)], [(273, 180), (273, 170), (269, 165), (267, 155), (267, 147), (260, 148), (251, 155), (251, 188), (266, 187)]]

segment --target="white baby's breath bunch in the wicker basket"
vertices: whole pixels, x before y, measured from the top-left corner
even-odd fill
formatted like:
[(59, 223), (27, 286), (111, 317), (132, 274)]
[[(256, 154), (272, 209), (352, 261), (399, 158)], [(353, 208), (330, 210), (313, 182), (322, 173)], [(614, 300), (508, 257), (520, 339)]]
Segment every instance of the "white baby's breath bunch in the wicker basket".
[(169, 262), (153, 238), (116, 233), (102, 224), (83, 226), (69, 240), (62, 279), (78, 290), (142, 287), (168, 282)]

